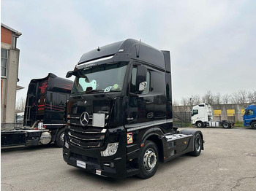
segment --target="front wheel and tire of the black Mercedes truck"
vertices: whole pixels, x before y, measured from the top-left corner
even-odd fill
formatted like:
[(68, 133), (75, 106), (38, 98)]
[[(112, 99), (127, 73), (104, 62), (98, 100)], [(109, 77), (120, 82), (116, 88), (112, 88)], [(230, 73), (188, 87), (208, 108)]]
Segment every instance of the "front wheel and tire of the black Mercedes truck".
[(138, 160), (140, 170), (138, 176), (142, 179), (148, 179), (154, 176), (158, 168), (158, 160), (157, 145), (153, 141), (146, 141)]

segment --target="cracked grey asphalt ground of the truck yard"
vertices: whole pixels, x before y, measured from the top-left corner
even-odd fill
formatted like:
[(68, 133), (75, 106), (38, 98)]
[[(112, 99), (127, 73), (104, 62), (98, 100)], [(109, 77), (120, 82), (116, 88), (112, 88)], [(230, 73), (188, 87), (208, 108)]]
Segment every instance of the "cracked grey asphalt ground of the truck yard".
[(203, 128), (205, 150), (160, 164), (151, 179), (108, 179), (64, 163), (61, 149), (1, 149), (1, 190), (255, 190), (256, 130)]

